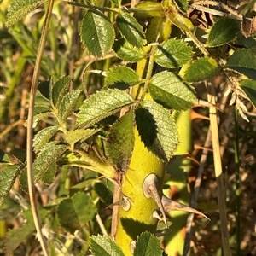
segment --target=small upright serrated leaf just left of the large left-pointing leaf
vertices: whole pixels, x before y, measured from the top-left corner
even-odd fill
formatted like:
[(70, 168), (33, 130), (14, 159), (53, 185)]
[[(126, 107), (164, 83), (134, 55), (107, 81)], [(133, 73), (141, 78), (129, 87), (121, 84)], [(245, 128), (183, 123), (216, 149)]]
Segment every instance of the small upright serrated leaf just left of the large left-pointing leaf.
[(59, 107), (59, 114), (63, 122), (66, 122), (67, 117), (73, 112), (81, 92), (82, 90), (73, 90), (63, 96)]

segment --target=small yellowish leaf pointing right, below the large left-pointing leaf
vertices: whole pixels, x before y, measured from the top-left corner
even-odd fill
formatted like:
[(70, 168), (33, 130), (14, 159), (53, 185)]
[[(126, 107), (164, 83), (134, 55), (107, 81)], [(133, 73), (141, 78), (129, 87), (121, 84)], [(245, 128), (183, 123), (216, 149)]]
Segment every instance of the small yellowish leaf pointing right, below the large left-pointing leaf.
[(93, 136), (99, 130), (93, 129), (77, 129), (73, 131), (68, 131), (66, 135), (66, 141), (68, 144), (73, 145), (79, 141), (84, 141), (87, 138)]

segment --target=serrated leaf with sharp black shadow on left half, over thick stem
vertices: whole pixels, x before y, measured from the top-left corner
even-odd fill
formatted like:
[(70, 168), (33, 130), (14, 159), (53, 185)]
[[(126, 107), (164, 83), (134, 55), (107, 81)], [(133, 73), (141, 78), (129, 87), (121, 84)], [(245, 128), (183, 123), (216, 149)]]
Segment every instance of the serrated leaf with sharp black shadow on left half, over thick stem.
[(162, 160), (169, 160), (177, 148), (177, 125), (172, 115), (154, 101), (143, 101), (136, 109), (137, 130), (145, 146)]

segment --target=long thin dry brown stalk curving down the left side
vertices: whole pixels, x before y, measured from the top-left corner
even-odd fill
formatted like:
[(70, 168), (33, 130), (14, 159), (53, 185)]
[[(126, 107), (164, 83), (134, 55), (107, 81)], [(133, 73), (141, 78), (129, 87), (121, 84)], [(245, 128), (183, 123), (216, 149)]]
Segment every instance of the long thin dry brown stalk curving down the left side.
[(44, 45), (46, 42), (47, 31), (49, 28), (49, 20), (52, 13), (54, 5), (54, 0), (49, 1), (49, 5), (47, 8), (47, 12), (45, 14), (44, 26), (42, 31), (42, 37), (40, 38), (39, 46), (38, 46), (38, 54), (37, 60), (35, 63), (34, 73), (32, 76), (32, 87), (30, 91), (30, 102), (28, 108), (28, 117), (27, 117), (27, 140), (26, 140), (26, 154), (27, 154), (27, 183), (28, 183), (28, 191), (29, 191), (29, 198), (32, 207), (32, 216), (34, 220), (34, 224), (38, 234), (38, 240), (42, 247), (45, 256), (49, 255), (47, 243), (44, 239), (44, 235), (42, 232), (42, 225), (40, 222), (38, 209), (37, 209), (37, 200), (36, 200), (36, 191), (35, 185), (33, 181), (33, 173), (32, 173), (32, 137), (33, 137), (33, 115), (34, 115), (34, 104), (35, 104), (35, 96), (36, 96), (36, 89), (38, 84), (38, 77), (40, 71), (40, 62), (42, 60), (42, 56), (44, 53)]

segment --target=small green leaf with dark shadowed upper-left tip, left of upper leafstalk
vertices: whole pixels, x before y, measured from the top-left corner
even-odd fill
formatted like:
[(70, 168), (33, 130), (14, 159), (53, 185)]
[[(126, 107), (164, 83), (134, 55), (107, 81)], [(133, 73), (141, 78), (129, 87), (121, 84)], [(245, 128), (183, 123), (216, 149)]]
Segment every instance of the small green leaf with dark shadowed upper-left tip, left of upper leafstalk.
[(127, 62), (137, 62), (144, 58), (145, 54), (142, 48), (134, 47), (125, 41), (124, 38), (113, 44), (113, 49), (117, 54), (117, 57)]

